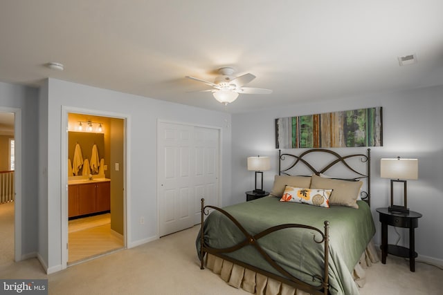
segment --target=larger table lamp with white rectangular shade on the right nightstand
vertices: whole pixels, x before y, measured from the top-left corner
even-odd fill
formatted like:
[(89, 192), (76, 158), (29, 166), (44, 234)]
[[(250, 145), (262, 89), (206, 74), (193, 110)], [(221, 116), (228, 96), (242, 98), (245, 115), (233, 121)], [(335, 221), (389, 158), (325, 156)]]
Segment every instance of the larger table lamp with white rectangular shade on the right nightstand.
[[(418, 179), (418, 160), (417, 159), (381, 159), (380, 160), (381, 178), (390, 178), (390, 207), (389, 211), (409, 213), (406, 196), (406, 180)], [(394, 202), (394, 182), (403, 182), (404, 201), (403, 205)]]

